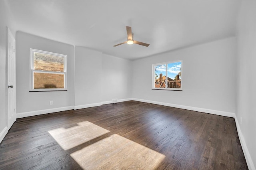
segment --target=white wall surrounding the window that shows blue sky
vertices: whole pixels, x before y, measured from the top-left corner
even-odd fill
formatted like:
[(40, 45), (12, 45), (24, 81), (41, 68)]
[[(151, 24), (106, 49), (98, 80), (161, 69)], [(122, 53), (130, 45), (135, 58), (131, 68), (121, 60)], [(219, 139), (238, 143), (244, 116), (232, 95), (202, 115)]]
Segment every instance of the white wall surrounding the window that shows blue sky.
[[(183, 60), (183, 91), (152, 90), (152, 64)], [(133, 61), (132, 97), (235, 112), (236, 38), (226, 38)]]

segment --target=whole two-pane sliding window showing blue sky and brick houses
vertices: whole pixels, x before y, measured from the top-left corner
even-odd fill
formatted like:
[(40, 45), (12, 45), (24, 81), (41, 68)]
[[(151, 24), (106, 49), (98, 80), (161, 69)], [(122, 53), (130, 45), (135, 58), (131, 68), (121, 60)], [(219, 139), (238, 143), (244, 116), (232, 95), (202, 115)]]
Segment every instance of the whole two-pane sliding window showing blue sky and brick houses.
[(152, 73), (152, 89), (182, 90), (182, 60), (153, 64)]

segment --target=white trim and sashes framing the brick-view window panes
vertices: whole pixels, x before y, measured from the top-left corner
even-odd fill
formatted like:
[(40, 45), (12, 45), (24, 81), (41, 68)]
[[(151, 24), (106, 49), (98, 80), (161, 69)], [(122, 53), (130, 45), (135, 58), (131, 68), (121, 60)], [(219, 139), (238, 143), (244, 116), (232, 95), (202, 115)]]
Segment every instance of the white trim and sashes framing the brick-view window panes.
[[(57, 57), (64, 57), (64, 69), (63, 72), (57, 72), (57, 71), (46, 71), (46, 70), (35, 70), (34, 69), (34, 53), (44, 53), (49, 55), (54, 55)], [(64, 74), (64, 88), (53, 88), (53, 89), (34, 89), (34, 75), (33, 73), (53, 73), (53, 74)], [(30, 48), (30, 79), (29, 79), (29, 91), (67, 91), (68, 90), (68, 84), (67, 84), (67, 55), (59, 54), (59, 53), (53, 53), (49, 51), (42, 51), (39, 49), (32, 49)]]

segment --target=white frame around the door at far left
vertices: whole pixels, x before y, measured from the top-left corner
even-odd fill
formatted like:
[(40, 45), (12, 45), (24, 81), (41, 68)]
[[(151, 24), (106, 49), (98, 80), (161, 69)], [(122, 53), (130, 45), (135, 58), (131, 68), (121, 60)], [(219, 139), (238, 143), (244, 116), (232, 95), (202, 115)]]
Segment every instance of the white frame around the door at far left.
[(6, 27), (6, 124), (8, 130), (12, 127), (9, 121), (9, 108), (8, 108), (8, 73), (9, 73), (9, 65), (8, 65), (8, 55), (9, 55), (9, 36), (14, 40), (14, 67), (13, 67), (13, 74), (14, 74), (14, 81), (13, 81), (13, 93), (14, 93), (14, 122), (16, 121), (16, 40), (12, 35), (12, 32), (8, 27)]

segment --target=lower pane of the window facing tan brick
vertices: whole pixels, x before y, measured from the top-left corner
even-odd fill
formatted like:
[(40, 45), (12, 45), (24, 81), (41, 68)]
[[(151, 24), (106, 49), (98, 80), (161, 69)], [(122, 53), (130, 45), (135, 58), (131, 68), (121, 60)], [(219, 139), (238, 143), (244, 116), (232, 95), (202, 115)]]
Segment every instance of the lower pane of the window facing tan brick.
[(34, 72), (34, 89), (64, 89), (64, 74)]

